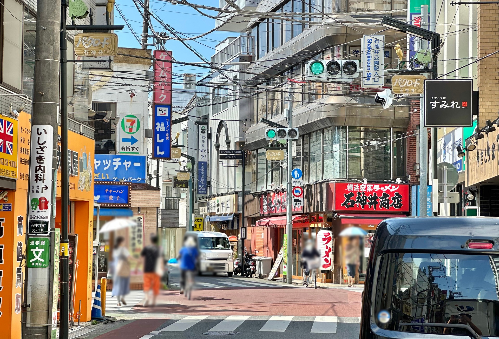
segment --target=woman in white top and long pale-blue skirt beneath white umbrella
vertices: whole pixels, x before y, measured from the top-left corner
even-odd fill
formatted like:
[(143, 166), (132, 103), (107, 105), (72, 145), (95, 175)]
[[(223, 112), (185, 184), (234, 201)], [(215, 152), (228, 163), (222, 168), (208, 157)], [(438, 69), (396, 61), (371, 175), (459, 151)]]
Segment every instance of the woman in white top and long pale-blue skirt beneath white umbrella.
[[(114, 277), (111, 297), (116, 297), (117, 306), (126, 305), (125, 296), (130, 293), (130, 252), (123, 237), (116, 238), (113, 250)], [(105, 291), (104, 291), (105, 293)]]

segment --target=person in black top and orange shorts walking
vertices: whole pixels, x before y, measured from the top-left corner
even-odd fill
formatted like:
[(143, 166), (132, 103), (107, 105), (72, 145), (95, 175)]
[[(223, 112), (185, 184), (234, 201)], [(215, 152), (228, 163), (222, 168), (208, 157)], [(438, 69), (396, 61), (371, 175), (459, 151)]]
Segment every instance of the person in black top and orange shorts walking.
[(160, 286), (160, 276), (156, 273), (156, 265), (157, 261), (162, 258), (157, 235), (151, 235), (151, 245), (144, 247), (140, 255), (144, 257), (144, 307), (151, 304), (149, 296), (151, 289), (153, 290), (152, 305), (156, 305)]

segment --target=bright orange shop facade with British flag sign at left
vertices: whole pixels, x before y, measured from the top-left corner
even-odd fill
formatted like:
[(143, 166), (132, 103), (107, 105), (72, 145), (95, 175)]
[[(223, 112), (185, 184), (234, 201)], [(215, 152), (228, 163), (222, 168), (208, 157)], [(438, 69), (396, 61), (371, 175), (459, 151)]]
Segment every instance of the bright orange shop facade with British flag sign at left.
[[(27, 187), (29, 169), (30, 114), (21, 112), (17, 119), (1, 116), (0, 124), (0, 328), (2, 339), (21, 338), (23, 303)], [(60, 131), (60, 129), (59, 129)], [(68, 132), (71, 150), (70, 220), (72, 234), (72, 299), (81, 321), (90, 320), (91, 241), (94, 141)], [(60, 139), (59, 139), (60, 140)], [(58, 144), (60, 147), (60, 143)], [(58, 152), (60, 155), (60, 152)], [(85, 165), (84, 165), (85, 164)], [(5, 193), (4, 193), (5, 192)], [(60, 168), (57, 175), (56, 227), (60, 228)]]

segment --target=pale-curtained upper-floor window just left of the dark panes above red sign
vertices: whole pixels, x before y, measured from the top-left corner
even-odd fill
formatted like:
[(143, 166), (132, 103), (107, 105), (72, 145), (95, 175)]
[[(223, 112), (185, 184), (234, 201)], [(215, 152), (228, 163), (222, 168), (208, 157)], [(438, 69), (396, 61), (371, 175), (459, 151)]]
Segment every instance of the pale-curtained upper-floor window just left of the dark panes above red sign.
[(334, 126), (324, 130), (324, 179), (346, 177), (346, 127)]

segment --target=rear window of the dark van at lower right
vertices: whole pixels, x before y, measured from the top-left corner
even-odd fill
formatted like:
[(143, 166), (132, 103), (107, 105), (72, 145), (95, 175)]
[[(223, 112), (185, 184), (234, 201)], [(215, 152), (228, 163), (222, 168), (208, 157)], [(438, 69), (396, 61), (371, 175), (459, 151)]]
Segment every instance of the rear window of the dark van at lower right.
[[(389, 253), (381, 257), (374, 318), (380, 328), (499, 336), (499, 256)], [(401, 325), (401, 324), (414, 325)], [(422, 323), (450, 327), (418, 326)]]

